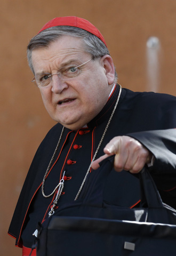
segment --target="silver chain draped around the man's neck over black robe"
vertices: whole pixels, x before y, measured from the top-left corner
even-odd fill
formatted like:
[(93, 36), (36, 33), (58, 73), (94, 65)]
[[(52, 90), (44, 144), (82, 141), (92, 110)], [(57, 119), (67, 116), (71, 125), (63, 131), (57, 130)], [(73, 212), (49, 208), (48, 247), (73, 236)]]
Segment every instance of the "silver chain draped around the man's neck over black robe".
[[(119, 85), (119, 93), (118, 93), (118, 98), (117, 98), (116, 104), (115, 104), (115, 106), (114, 106), (113, 112), (111, 113), (111, 116), (110, 116), (109, 121), (108, 121), (108, 123), (107, 123), (107, 125), (106, 125), (106, 128), (105, 128), (105, 130), (104, 130), (104, 132), (103, 132), (103, 134), (102, 134), (101, 140), (100, 140), (99, 145), (98, 145), (98, 147), (97, 147), (97, 150), (95, 151), (95, 154), (94, 154), (94, 156), (93, 156), (93, 158), (92, 158), (91, 164), (92, 164), (92, 162), (94, 161), (95, 157), (97, 156), (98, 151), (99, 151), (99, 148), (100, 148), (100, 146), (101, 146), (101, 143), (102, 143), (103, 139), (105, 138), (105, 134), (106, 134), (106, 132), (107, 132), (107, 130), (108, 130), (108, 127), (109, 127), (109, 124), (110, 124), (110, 122), (111, 122), (111, 119), (113, 118), (114, 113), (115, 113), (115, 110), (116, 110), (116, 108), (117, 108), (119, 98), (121, 97), (121, 92), (122, 92), (122, 86)], [(43, 195), (44, 197), (46, 197), (46, 198), (52, 196), (52, 195), (55, 193), (55, 190), (57, 190), (57, 188), (61, 186), (61, 189), (58, 190), (57, 196), (55, 197), (55, 200), (54, 200), (56, 204), (58, 203), (58, 199), (59, 199), (59, 197), (60, 197), (60, 195), (61, 195), (60, 190), (63, 189), (63, 181), (62, 181), (63, 178), (60, 180), (59, 184), (54, 188), (54, 190), (52, 191), (52, 193), (51, 193), (50, 195), (45, 195), (45, 193), (44, 193), (44, 185), (45, 185), (45, 180), (46, 180), (47, 174), (49, 173), (51, 164), (52, 164), (52, 162), (53, 162), (53, 159), (54, 159), (54, 157), (55, 157), (55, 155), (56, 155), (56, 153), (57, 153), (57, 150), (58, 150), (58, 148), (59, 148), (59, 145), (60, 145), (60, 142), (61, 142), (61, 139), (62, 139), (62, 136), (63, 136), (63, 131), (64, 131), (64, 129), (65, 129), (65, 127), (63, 126), (62, 131), (61, 131), (61, 134), (60, 134), (60, 138), (59, 138), (59, 141), (58, 141), (58, 144), (57, 144), (57, 147), (56, 147), (55, 150), (54, 150), (54, 154), (53, 154), (53, 156), (52, 156), (52, 158), (51, 158), (51, 161), (50, 161), (50, 163), (49, 163), (49, 166), (47, 167), (47, 170), (46, 170), (46, 173), (45, 173), (45, 175), (44, 175), (43, 182), (42, 182), (42, 195)], [(90, 172), (91, 164), (89, 165), (89, 168), (88, 168), (88, 170), (87, 170), (87, 172), (86, 172), (86, 174), (85, 174), (85, 177), (84, 177), (84, 180), (83, 180), (83, 182), (82, 182), (82, 185), (81, 185), (81, 187), (79, 188), (78, 193), (77, 193), (77, 195), (76, 195), (76, 197), (75, 197), (75, 200), (77, 200), (79, 194), (81, 193), (81, 190), (82, 190), (82, 188), (83, 188), (83, 186), (84, 186), (84, 183), (85, 183), (85, 180), (86, 180), (86, 178), (87, 178), (87, 175), (88, 175), (89, 172)], [(54, 206), (52, 207), (53, 209), (54, 209), (54, 207), (56, 206), (55, 203), (54, 203)], [(53, 210), (53, 209), (51, 209), (52, 213), (51, 213), (50, 215), (52, 215), (52, 214), (54, 213), (54, 210)]]

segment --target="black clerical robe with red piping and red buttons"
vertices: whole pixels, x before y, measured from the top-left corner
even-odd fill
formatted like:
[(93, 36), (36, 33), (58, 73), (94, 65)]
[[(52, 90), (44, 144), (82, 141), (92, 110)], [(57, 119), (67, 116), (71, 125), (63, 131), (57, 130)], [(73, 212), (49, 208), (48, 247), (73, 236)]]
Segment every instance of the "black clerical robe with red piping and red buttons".
[[(58, 206), (72, 202), (81, 186), (91, 159), (97, 149), (102, 133), (113, 111), (119, 93), (116, 85), (106, 106), (86, 128), (78, 131), (65, 129), (54, 158), (51, 170), (45, 181), (45, 194), (50, 194), (58, 185), (65, 171), (65, 186)], [(139, 140), (155, 156), (153, 166), (149, 167), (163, 201), (176, 208), (176, 98), (172, 95), (153, 92), (132, 92), (122, 89), (122, 94), (99, 149), (97, 158), (103, 155), (103, 148), (118, 135), (129, 135)], [(54, 196), (44, 198), (41, 185), (47, 166), (57, 146), (62, 126), (56, 124), (47, 133), (31, 163), (23, 185), (17, 207), (14, 211), (9, 234), (16, 238), (16, 245), (22, 246), (21, 235), (29, 226), (36, 229), (38, 221), (44, 221)], [(101, 171), (91, 170), (91, 172)], [(91, 177), (91, 173), (89, 174)], [(139, 180), (135, 175), (122, 171), (111, 171), (106, 181), (105, 201), (109, 204), (134, 207), (140, 201)], [(87, 178), (86, 186), (89, 186)], [(83, 197), (81, 193), (78, 200)], [(96, 196), (96, 195), (95, 195)], [(33, 223), (35, 222), (36, 223)], [(32, 229), (31, 229), (32, 230)], [(31, 234), (30, 234), (31, 235)], [(29, 246), (30, 244), (25, 244)]]

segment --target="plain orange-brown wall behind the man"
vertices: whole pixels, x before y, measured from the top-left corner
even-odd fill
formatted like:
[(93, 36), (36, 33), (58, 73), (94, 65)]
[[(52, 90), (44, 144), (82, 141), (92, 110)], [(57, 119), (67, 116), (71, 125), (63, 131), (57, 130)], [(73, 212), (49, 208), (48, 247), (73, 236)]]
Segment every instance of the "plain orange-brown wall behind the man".
[(34, 153), (54, 124), (30, 83), (29, 39), (54, 17), (88, 19), (106, 39), (119, 83), (143, 91), (149, 88), (146, 42), (157, 36), (161, 42), (158, 92), (176, 95), (175, 13), (173, 0), (1, 0), (1, 255), (21, 255), (7, 229)]

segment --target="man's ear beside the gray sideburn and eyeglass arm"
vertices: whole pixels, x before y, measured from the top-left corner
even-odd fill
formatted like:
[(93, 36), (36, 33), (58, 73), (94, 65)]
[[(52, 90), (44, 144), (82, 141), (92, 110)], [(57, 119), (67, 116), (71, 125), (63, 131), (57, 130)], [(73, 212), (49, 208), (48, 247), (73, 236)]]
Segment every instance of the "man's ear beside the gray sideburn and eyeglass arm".
[(105, 55), (101, 58), (103, 68), (105, 69), (105, 74), (108, 80), (108, 84), (111, 85), (115, 80), (115, 68), (113, 59), (110, 55)]

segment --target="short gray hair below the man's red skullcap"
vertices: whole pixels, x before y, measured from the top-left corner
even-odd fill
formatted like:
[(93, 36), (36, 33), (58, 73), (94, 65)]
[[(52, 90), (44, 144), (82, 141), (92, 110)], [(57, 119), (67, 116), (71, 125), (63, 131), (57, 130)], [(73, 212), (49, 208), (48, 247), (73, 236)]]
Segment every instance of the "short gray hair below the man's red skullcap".
[[(27, 46), (28, 64), (33, 73), (34, 68), (31, 60), (32, 51), (37, 48), (49, 46), (51, 42), (56, 41), (63, 35), (81, 37), (83, 39), (83, 47), (85, 52), (90, 53), (92, 55), (92, 59), (103, 57), (106, 54), (110, 55), (106, 45), (97, 36), (89, 33), (84, 29), (70, 26), (57, 26), (47, 28), (34, 36)], [(115, 82), (116, 81), (117, 73), (115, 70)]]

